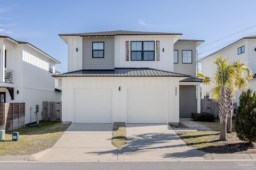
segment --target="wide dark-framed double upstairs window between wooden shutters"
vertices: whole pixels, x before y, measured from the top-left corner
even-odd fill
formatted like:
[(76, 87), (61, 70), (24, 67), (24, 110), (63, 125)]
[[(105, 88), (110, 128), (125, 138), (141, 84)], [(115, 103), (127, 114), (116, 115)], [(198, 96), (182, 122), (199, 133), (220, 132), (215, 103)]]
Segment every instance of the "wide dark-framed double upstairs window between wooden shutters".
[(155, 61), (155, 41), (131, 41), (131, 61)]

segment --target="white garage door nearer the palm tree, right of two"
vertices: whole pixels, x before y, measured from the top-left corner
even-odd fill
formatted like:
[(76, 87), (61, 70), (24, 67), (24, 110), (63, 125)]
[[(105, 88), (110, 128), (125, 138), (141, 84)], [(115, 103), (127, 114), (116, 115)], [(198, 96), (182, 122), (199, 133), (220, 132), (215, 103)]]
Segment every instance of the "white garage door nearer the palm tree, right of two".
[(127, 123), (167, 123), (166, 88), (127, 89)]

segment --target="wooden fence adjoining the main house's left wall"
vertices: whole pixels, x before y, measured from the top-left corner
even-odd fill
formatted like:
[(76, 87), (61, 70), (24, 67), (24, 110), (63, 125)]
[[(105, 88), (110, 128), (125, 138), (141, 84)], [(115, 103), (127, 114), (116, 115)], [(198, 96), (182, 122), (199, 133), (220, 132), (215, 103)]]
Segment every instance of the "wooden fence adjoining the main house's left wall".
[(43, 121), (61, 121), (61, 102), (43, 101)]

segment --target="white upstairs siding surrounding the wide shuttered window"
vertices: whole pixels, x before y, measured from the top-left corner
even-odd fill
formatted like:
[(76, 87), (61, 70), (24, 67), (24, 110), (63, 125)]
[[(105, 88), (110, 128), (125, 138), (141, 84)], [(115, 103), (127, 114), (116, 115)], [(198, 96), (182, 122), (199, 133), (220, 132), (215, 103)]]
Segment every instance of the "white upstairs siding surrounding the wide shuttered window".
[[(160, 41), (160, 61), (125, 61), (125, 41)], [(115, 67), (149, 67), (173, 71), (173, 36), (115, 36)], [(155, 43), (156, 48), (156, 43)], [(164, 48), (164, 52), (163, 52)], [(130, 48), (131, 50), (131, 48)], [(130, 52), (131, 55), (131, 52)], [(131, 57), (130, 57), (131, 58)], [(155, 57), (156, 58), (156, 57)]]

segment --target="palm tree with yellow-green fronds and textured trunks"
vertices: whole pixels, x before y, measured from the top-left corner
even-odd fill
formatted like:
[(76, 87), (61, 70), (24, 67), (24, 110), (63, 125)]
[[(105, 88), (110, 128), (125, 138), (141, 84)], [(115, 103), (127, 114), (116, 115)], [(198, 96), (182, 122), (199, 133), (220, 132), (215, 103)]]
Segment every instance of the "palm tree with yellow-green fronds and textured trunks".
[[(225, 141), (227, 140), (227, 122), (229, 122), (228, 129), (231, 126), (235, 91), (247, 87), (247, 79), (252, 79), (253, 74), (241, 61), (230, 64), (228, 58), (223, 59), (218, 56), (214, 64), (217, 65), (214, 78), (205, 77), (202, 73), (198, 73), (197, 77), (203, 78), (204, 84), (210, 84), (212, 81), (215, 83), (212, 94), (213, 99), (219, 101), (220, 104), (220, 140)], [(246, 73), (247, 75), (245, 75)]]

